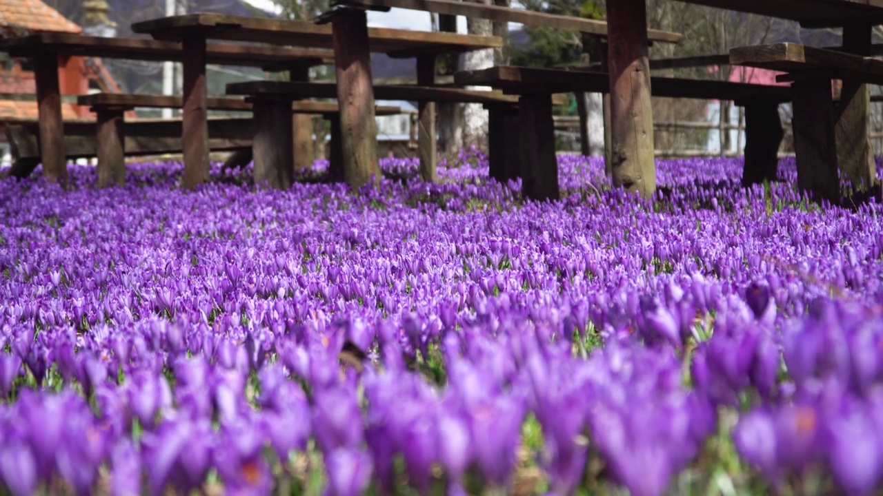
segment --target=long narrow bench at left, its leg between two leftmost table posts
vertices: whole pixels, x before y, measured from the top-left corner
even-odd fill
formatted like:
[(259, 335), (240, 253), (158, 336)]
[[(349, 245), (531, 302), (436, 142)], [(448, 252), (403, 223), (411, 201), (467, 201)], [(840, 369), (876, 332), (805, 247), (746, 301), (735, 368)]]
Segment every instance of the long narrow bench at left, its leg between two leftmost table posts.
[[(90, 106), (97, 115), (96, 136), (99, 187), (107, 186), (111, 183), (121, 183), (125, 177), (125, 131), (123, 129), (125, 110), (136, 107), (180, 109), (183, 101), (184, 99), (181, 96), (161, 94), (99, 93), (87, 94), (78, 98), (80, 105)], [(290, 106), (289, 120), (291, 120), (291, 113), (319, 114), (331, 120), (334, 120), (338, 113), (337, 104), (328, 101), (293, 101)], [(251, 111), (252, 103), (245, 101), (243, 98), (213, 96), (206, 99), (206, 108), (208, 110)], [(400, 114), (402, 109), (399, 107), (382, 106), (375, 109), (375, 112), (378, 115), (389, 116)], [(254, 124), (260, 126), (260, 123)], [(289, 135), (290, 141), (291, 136), (292, 134)], [(291, 147), (291, 144), (288, 147)], [(252, 160), (252, 155), (249, 153), (236, 154), (233, 158), (236, 161), (226, 164), (227, 166), (238, 167), (244, 165)]]

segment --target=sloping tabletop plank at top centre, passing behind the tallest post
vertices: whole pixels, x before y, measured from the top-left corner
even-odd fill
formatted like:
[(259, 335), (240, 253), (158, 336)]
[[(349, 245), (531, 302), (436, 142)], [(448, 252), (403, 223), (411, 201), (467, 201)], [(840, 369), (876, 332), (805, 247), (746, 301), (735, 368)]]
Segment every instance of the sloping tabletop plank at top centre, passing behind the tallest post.
[[(517, 22), (525, 26), (542, 26), (554, 29), (567, 29), (587, 34), (607, 35), (607, 23), (602, 20), (582, 19), (572, 16), (548, 14), (546, 12), (511, 9), (499, 5), (474, 4), (452, 0), (337, 0), (336, 4), (364, 9), (410, 9), (427, 11), (467, 18), (489, 19), (497, 22)], [(682, 34), (669, 33), (656, 29), (647, 30), (650, 41), (676, 43)]]

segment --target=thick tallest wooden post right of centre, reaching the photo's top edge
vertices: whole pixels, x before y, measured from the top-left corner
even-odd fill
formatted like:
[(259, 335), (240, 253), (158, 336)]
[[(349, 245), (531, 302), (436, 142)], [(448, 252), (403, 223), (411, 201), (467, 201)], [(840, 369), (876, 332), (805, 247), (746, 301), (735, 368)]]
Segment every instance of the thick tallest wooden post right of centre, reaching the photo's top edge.
[(613, 184), (650, 197), (656, 190), (656, 166), (646, 4), (616, 0), (607, 7)]

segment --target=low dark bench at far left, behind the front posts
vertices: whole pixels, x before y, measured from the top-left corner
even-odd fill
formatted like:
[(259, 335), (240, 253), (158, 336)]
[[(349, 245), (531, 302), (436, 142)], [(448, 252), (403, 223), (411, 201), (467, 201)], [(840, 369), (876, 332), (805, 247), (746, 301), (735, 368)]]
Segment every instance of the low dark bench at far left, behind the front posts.
[[(4, 124), (14, 159), (10, 175), (27, 177), (41, 162), (39, 124), (32, 119), (4, 119)], [(95, 135), (95, 124), (94, 120), (87, 119), (64, 122), (65, 162), (99, 155), (100, 137)], [(120, 125), (120, 136), (125, 137), (123, 153), (126, 156), (181, 153), (181, 119), (140, 119)], [(210, 149), (218, 152), (251, 149), (251, 127), (250, 117), (209, 119)], [(120, 180), (119, 177), (114, 179)]]

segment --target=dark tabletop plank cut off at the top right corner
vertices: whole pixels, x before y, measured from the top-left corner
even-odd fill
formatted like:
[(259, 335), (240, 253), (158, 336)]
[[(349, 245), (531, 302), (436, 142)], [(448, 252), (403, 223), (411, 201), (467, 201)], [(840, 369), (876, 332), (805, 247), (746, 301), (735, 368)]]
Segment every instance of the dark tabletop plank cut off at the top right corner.
[(682, 0), (730, 11), (796, 20), (804, 27), (883, 23), (883, 0)]

